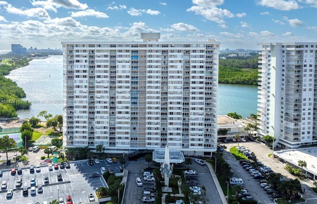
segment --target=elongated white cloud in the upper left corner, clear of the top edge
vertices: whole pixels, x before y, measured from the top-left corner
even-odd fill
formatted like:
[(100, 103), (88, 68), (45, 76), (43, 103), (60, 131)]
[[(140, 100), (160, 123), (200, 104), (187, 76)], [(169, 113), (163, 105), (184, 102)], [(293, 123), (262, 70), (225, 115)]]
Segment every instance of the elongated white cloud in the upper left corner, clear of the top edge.
[(21, 15), (21, 16), (23, 15), (28, 17), (38, 17), (38, 18), (44, 18), (44, 19), (50, 18), (49, 13), (44, 8), (40, 8), (40, 7), (22, 10), (22, 9), (13, 7), (11, 4), (7, 4), (6, 6), (4, 6), (4, 8), (8, 13), (13, 13), (13, 14)]

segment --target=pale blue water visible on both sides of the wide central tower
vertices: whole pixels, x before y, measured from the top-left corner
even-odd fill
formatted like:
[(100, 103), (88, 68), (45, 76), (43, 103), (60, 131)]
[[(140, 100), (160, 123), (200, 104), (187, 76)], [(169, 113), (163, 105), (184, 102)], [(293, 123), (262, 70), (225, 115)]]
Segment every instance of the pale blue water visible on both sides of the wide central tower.
[[(17, 82), (32, 102), (30, 110), (18, 111), (18, 117), (31, 118), (41, 111), (62, 114), (62, 56), (34, 59), (30, 65), (11, 71), (7, 78)], [(218, 115), (236, 112), (243, 118), (257, 113), (257, 86), (219, 84)]]

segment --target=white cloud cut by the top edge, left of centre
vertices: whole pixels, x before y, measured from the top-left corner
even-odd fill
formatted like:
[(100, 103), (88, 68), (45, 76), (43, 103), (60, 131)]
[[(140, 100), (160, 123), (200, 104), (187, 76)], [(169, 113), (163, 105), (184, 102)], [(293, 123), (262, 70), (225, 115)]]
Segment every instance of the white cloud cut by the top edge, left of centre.
[(52, 9), (56, 12), (55, 8), (64, 7), (70, 9), (86, 9), (88, 5), (80, 3), (78, 0), (32, 0), (32, 5), (43, 6), (46, 9)]

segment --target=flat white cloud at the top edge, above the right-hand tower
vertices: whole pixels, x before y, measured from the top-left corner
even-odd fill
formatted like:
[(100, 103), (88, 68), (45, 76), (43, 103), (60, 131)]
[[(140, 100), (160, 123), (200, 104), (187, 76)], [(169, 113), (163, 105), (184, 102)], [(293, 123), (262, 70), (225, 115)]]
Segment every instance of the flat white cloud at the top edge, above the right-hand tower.
[(296, 0), (260, 0), (259, 4), (284, 11), (300, 8)]

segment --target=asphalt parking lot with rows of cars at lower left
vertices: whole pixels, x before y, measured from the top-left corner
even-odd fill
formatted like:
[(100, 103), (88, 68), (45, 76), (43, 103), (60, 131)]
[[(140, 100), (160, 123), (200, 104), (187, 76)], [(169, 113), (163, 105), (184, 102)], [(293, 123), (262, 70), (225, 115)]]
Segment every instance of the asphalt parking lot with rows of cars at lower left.
[[(115, 173), (120, 172), (119, 163), (107, 163), (101, 160), (100, 164), (89, 165), (88, 161), (70, 163), (70, 168), (49, 170), (48, 164), (41, 166), (41, 172), (30, 172), (29, 167), (22, 168), (22, 174), (11, 175), (11, 169), (3, 169), (3, 175), (0, 177), (0, 182), (6, 181), (7, 188), (1, 189), (0, 200), (2, 204), (33, 204), (44, 201), (51, 202), (52, 200), (64, 198), (68, 195), (72, 196), (74, 204), (79, 202), (88, 203), (88, 194), (94, 193), (97, 200), (95, 190), (98, 187), (106, 186), (104, 178), (89, 178), (89, 174), (98, 173), (101, 175), (100, 168), (105, 166), (106, 169), (111, 168)], [(62, 181), (57, 180), (57, 174), (61, 173)], [(49, 177), (49, 184), (44, 184), (44, 178)], [(16, 188), (15, 181), (22, 178), (22, 186)], [(31, 179), (35, 178), (36, 187), (43, 185), (43, 193), (36, 192), (35, 195), (30, 194)], [(28, 186), (28, 195), (23, 195), (23, 187)], [(8, 189), (13, 189), (13, 196), (6, 198)]]

